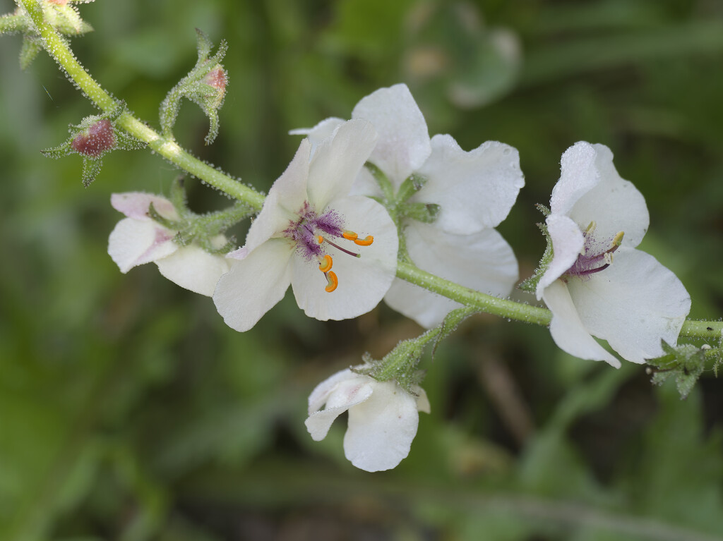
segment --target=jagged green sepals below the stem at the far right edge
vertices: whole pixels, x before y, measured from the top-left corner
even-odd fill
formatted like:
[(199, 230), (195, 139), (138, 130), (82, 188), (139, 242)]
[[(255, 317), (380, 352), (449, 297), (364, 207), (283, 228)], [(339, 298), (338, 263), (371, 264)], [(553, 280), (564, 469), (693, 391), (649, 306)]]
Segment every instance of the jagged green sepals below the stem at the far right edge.
[(680, 398), (684, 399), (690, 394), (703, 373), (706, 364), (706, 350), (691, 344), (672, 346), (665, 340), (661, 340), (661, 346), (665, 355), (646, 361), (649, 365), (656, 367), (649, 369), (653, 375), (651, 382), (662, 385), (668, 378), (674, 377)]

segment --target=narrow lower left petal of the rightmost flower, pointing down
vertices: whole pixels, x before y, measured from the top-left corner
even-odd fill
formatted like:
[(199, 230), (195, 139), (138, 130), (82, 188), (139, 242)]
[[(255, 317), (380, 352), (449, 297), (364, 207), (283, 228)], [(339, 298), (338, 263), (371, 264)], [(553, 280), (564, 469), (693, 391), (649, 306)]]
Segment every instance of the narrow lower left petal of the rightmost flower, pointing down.
[(567, 285), (555, 280), (545, 288), (542, 298), (552, 311), (549, 332), (557, 347), (581, 359), (604, 360), (620, 368), (620, 361), (599, 345), (583, 325)]

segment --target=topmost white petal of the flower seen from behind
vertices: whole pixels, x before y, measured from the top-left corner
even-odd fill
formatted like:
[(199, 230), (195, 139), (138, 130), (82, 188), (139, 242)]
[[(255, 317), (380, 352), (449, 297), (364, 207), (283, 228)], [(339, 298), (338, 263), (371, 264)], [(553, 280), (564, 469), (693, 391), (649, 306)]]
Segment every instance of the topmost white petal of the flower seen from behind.
[(395, 189), (432, 152), (427, 122), (406, 85), (380, 88), (362, 98), (351, 117), (374, 124), (379, 140), (369, 161), (387, 174)]

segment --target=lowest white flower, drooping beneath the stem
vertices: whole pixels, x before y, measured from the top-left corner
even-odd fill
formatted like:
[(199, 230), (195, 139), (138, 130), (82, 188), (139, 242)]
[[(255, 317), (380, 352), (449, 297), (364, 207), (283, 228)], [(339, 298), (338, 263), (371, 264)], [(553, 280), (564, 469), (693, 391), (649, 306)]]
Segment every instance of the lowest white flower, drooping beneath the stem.
[(309, 395), (307, 430), (321, 441), (336, 417), (348, 410), (346, 458), (367, 472), (391, 469), (409, 454), (419, 412), (429, 413), (424, 389), (414, 386), (413, 391), (416, 396), (394, 381), (377, 381), (348, 369), (337, 372)]

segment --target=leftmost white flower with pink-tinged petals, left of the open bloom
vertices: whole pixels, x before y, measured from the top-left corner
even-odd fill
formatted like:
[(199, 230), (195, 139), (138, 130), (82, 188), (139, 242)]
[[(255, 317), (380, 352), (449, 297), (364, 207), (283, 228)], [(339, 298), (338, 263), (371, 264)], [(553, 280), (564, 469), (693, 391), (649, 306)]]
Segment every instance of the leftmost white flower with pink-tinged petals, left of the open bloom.
[[(180, 246), (174, 242), (176, 231), (170, 230), (148, 215), (150, 204), (166, 220), (179, 220), (173, 204), (161, 196), (132, 191), (112, 194), (111, 205), (127, 216), (116, 225), (108, 238), (108, 254), (121, 272), (153, 261), (161, 274), (181, 287), (201, 295), (213, 295), (228, 262), (221, 255), (209, 254), (197, 243)], [(226, 244), (226, 237), (212, 239), (215, 247)]]

